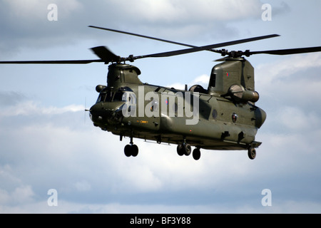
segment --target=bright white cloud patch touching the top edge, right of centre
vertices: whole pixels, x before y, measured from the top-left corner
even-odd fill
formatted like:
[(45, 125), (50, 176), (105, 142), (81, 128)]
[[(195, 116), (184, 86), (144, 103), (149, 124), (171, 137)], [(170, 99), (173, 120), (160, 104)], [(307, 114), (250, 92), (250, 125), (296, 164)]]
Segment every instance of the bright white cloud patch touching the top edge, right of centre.
[[(123, 3), (118, 1), (118, 4)], [(126, 3), (128, 4), (128, 3)], [(230, 21), (261, 14), (260, 1), (131, 1), (127, 14), (140, 15), (148, 21), (177, 23), (183, 21)]]

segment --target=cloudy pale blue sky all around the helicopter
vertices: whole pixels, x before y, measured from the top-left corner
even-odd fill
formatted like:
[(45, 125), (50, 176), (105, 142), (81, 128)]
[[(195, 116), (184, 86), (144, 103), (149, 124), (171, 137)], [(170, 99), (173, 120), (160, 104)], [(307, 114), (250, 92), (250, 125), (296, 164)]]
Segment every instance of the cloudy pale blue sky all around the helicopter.
[[(0, 0), (0, 61), (96, 59), (94, 46), (123, 57), (184, 48), (89, 25), (195, 46), (280, 34), (225, 47), (235, 51), (320, 46), (320, 13), (319, 0)], [(200, 51), (132, 64), (144, 83), (206, 88), (218, 58)], [(255, 160), (201, 150), (195, 161), (139, 139), (138, 156), (126, 157), (129, 139), (93, 127), (84, 112), (107, 65), (1, 65), (0, 213), (320, 213), (321, 53), (248, 60), (267, 113)]]

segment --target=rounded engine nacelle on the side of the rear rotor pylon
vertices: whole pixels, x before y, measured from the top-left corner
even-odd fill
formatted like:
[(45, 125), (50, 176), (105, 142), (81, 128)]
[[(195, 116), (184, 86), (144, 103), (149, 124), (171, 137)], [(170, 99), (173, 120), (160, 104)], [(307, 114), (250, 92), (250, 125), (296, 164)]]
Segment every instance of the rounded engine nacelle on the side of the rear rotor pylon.
[(255, 103), (260, 98), (258, 92), (246, 90), (243, 86), (240, 85), (233, 85), (228, 91), (231, 97), (238, 102), (250, 101)]

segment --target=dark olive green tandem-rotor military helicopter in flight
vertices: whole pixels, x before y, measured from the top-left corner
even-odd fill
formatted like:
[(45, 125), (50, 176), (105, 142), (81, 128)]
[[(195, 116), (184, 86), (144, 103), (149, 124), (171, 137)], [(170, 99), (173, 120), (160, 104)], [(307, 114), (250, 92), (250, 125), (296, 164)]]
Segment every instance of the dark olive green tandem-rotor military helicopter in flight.
[[(89, 26), (132, 36), (174, 43), (188, 48), (178, 51), (153, 53), (145, 56), (117, 56), (105, 46), (91, 48), (99, 58), (94, 60), (67, 61), (0, 61), (2, 64), (109, 64), (107, 85), (96, 86), (99, 93), (96, 103), (88, 110), (93, 125), (115, 135), (130, 138), (124, 152), (127, 157), (138, 155), (133, 138), (158, 143), (177, 144), (178, 155), (190, 155), (200, 159), (200, 149), (248, 150), (253, 160), (255, 148), (262, 142), (255, 141), (258, 129), (263, 125), (266, 113), (255, 105), (259, 94), (255, 91), (254, 68), (243, 56), (253, 54), (289, 55), (321, 51), (321, 46), (272, 51), (228, 51), (214, 49), (238, 43), (258, 41), (279, 36), (277, 34), (216, 43), (208, 46), (192, 46), (186, 43), (143, 36), (111, 28)], [(200, 85), (185, 90), (142, 83), (141, 71), (126, 61), (140, 58), (177, 56), (197, 51), (220, 53), (220, 58), (210, 72), (208, 88)]]

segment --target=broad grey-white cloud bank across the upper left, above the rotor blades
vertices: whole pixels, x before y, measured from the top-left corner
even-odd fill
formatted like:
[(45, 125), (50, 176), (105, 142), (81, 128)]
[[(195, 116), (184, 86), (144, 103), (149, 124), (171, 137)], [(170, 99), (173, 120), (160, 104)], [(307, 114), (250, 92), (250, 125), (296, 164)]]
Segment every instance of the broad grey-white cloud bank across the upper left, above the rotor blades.
[[(49, 21), (47, 7), (52, 1), (1, 1), (0, 50), (11, 56), (21, 48), (43, 49), (49, 46), (74, 45), (83, 40), (112, 39), (98, 34), (88, 25), (121, 28), (127, 31), (153, 33), (168, 38), (193, 38), (205, 31), (211, 38), (220, 34), (235, 34), (223, 21), (258, 17), (260, 1), (55, 1), (58, 21)], [(107, 12), (107, 13), (106, 13)], [(107, 22), (108, 21), (108, 22)], [(204, 23), (204, 21), (208, 21)], [(121, 26), (120, 26), (121, 25)], [(135, 29), (133, 29), (135, 28)], [(138, 30), (139, 29), (139, 30)], [(147, 30), (146, 30), (147, 29)], [(101, 32), (99, 32), (101, 33)], [(147, 34), (148, 34), (147, 33)], [(209, 36), (207, 34), (206, 36)], [(118, 36), (119, 37), (119, 36)]]

